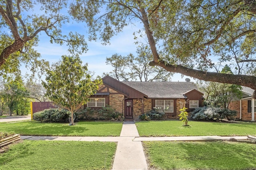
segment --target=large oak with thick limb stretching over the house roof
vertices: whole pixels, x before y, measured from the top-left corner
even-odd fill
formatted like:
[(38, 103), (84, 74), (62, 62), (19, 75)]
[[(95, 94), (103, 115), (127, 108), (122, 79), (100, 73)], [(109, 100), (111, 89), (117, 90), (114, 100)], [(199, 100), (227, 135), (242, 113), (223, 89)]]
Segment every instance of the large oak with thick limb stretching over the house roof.
[[(142, 23), (144, 31), (137, 33), (146, 34), (152, 66), (256, 90), (250, 75), (256, 61), (255, 0), (80, 0), (70, 13), (86, 21), (91, 39), (100, 35), (103, 43), (126, 25)], [(220, 73), (226, 64), (236, 74)]]

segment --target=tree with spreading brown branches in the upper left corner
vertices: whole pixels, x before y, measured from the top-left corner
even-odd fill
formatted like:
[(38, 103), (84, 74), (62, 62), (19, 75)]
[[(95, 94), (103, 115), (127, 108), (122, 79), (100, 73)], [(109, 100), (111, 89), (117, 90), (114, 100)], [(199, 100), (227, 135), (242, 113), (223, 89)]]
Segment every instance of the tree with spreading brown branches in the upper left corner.
[(62, 32), (62, 25), (70, 18), (65, 15), (68, 3), (68, 0), (0, 0), (0, 75), (20, 75), (22, 63), (33, 73), (48, 66), (34, 49), (40, 34), (47, 35), (50, 43), (66, 44), (70, 54), (87, 50), (84, 35)]

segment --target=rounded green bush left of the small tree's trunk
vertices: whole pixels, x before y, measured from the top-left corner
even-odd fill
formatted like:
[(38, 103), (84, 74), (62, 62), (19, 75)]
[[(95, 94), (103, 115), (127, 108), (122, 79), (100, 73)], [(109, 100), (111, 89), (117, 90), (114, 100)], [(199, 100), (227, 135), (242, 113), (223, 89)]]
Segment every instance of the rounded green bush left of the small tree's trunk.
[(41, 122), (68, 122), (70, 111), (66, 109), (45, 109), (33, 113), (33, 119)]

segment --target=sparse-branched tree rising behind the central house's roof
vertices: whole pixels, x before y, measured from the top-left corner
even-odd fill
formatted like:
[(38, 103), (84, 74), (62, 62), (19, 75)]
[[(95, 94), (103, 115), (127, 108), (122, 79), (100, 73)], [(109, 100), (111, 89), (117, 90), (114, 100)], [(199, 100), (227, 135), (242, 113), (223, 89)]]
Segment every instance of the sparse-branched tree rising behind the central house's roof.
[(112, 55), (106, 59), (106, 63), (110, 64), (114, 69), (108, 74), (119, 81), (168, 81), (171, 79), (172, 73), (167, 72), (159, 66), (150, 66), (153, 56), (148, 47), (141, 46), (137, 48), (138, 56), (133, 54), (121, 56)]

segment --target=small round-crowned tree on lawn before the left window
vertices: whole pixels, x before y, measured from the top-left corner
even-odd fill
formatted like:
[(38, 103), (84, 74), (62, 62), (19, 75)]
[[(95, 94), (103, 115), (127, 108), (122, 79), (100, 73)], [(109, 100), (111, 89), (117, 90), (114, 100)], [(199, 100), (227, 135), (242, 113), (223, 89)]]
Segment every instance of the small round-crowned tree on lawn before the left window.
[(71, 112), (71, 125), (74, 125), (74, 112), (86, 104), (89, 96), (95, 94), (102, 84), (100, 77), (92, 81), (88, 74), (87, 64), (82, 65), (81, 59), (62, 56), (62, 61), (52, 65), (46, 72), (46, 96), (55, 104)]

